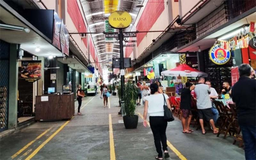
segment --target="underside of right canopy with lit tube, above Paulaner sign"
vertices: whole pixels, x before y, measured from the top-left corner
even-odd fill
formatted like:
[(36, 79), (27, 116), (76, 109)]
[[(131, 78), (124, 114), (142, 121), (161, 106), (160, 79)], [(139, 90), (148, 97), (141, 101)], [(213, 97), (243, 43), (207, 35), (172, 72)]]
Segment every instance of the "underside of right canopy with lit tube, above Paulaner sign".
[(251, 9), (236, 17), (235, 19), (228, 21), (222, 26), (212, 30), (211, 32), (206, 33), (204, 36), (197, 38), (194, 41), (176, 49), (175, 52), (197, 52), (198, 46), (200, 46), (202, 51), (211, 48), (218, 37), (223, 36), (228, 32), (243, 26), (244, 24), (247, 24), (247, 22), (255, 21), (255, 8), (256, 7), (253, 8), (254, 10)]

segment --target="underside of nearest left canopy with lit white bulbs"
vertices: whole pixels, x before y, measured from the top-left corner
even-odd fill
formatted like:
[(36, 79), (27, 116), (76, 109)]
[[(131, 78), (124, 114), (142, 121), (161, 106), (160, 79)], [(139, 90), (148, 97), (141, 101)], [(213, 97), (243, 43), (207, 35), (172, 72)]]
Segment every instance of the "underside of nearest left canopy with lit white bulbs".
[[(25, 31), (0, 28), (2, 40), (8, 43), (21, 44), (20, 48), (22, 50), (36, 56), (62, 56), (61, 51), (52, 45), (52, 41), (48, 37), (46, 37), (42, 32), (36, 29), (32, 24), (30, 24), (19, 13), (17, 13), (3, 1), (1, 1), (0, 10), (0, 20), (5, 24), (30, 29), (30, 32), (27, 33)], [(36, 52), (36, 48), (39, 48), (40, 51)]]

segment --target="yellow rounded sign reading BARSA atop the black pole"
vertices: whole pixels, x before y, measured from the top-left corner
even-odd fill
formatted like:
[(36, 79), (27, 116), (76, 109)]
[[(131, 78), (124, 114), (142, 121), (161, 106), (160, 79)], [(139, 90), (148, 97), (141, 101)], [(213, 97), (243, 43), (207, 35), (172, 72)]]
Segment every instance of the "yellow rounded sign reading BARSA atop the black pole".
[(127, 28), (132, 23), (132, 16), (126, 11), (115, 11), (108, 17), (108, 23), (116, 29)]

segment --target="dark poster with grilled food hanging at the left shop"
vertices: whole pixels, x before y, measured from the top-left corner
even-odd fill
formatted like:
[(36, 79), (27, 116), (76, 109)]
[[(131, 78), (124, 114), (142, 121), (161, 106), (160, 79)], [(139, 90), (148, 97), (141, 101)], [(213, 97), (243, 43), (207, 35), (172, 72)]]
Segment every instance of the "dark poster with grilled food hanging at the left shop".
[(21, 79), (28, 82), (35, 82), (41, 79), (41, 60), (21, 61)]

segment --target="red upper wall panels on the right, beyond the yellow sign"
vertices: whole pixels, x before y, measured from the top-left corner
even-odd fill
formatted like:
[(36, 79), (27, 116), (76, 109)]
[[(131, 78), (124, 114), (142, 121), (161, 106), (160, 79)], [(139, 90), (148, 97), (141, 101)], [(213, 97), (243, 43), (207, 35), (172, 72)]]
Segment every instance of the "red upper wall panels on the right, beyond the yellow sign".
[[(136, 26), (138, 31), (149, 31), (160, 14), (164, 11), (164, 0), (148, 0), (148, 3)], [(147, 33), (137, 33), (137, 46)]]

